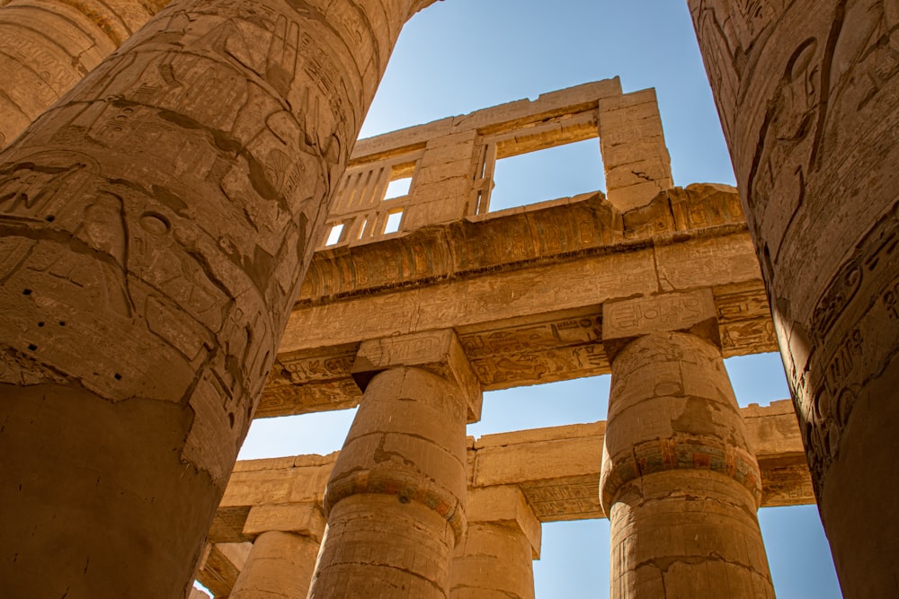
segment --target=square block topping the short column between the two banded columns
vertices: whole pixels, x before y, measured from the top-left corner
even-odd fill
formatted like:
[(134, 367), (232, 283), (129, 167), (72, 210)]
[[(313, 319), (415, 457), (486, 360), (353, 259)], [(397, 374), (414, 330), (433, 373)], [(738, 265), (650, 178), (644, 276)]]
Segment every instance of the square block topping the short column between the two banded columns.
[(543, 529), (518, 487), (469, 489), (467, 515), (469, 524), (491, 522), (517, 526), (528, 538), (534, 559), (540, 559)]

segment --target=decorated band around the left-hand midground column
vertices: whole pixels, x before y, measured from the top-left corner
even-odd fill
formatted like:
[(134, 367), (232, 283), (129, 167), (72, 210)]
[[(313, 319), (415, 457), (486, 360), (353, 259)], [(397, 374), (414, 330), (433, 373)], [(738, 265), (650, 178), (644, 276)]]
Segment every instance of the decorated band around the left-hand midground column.
[(325, 488), (325, 516), (330, 514), (337, 502), (353, 495), (395, 495), (400, 503), (415, 501), (443, 516), (452, 528), (456, 542), (459, 542), (466, 528), (466, 518), (458, 498), (432, 485), (422, 486), (420, 479), (406, 477), (399, 472), (382, 474), (387, 473), (352, 472), (339, 480), (330, 481)]

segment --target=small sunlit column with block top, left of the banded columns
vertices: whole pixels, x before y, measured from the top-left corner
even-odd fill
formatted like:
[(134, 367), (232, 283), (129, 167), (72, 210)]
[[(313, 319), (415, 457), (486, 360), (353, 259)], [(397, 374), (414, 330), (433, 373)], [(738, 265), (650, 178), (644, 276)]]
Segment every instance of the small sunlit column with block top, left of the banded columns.
[(228, 598), (306, 597), (325, 534), (321, 508), (255, 506), (246, 518), (244, 533), (258, 536)]

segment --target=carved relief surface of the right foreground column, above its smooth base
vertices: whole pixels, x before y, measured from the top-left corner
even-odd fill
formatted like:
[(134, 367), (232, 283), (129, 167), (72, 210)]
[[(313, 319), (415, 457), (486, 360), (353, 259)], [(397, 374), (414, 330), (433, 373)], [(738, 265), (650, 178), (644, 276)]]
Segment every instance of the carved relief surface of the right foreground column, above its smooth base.
[[(867, 366), (868, 373), (880, 367), (879, 358), (862, 357), (864, 348), (870, 347), (864, 339), (877, 333), (859, 329), (861, 304), (856, 308), (852, 304), (858, 298), (869, 305), (870, 298), (885, 295), (883, 284), (895, 277), (889, 268), (895, 260), (889, 258), (893, 233), (888, 225), (895, 219), (877, 216), (878, 211), (883, 215), (885, 207), (887, 211), (892, 207), (892, 196), (883, 196), (889, 202), (886, 206), (859, 201), (848, 216), (855, 204), (846, 200), (868, 195), (871, 188), (862, 191), (866, 186), (851, 181), (850, 167), (832, 161), (836, 155), (853, 152), (857, 156), (866, 151), (890, 153), (887, 145), (895, 138), (890, 132), (895, 128), (888, 125), (889, 105), (895, 103), (890, 81), (899, 72), (899, 4), (894, 0), (829, 2), (815, 5), (810, 12), (804, 10), (808, 3), (757, 4), (754, 11), (740, 6), (738, 13), (737, 7), (725, 8), (722, 3), (691, 3), (698, 31), (708, 20), (719, 31), (717, 36), (700, 31), (707, 65), (722, 65), (714, 57), (723, 48), (740, 48), (743, 64), (757, 63), (760, 73), (768, 69), (779, 76), (779, 81), (766, 85), (764, 103), (741, 95), (761, 75), (741, 70), (738, 62), (733, 63), (730, 81), (713, 77), (712, 83), (732, 147), (740, 136), (757, 136), (754, 155), (734, 153), (734, 162), (746, 191), (762, 269), (776, 299), (775, 323), (787, 348), (791, 382), (809, 427), (806, 439), (816, 462), (813, 471), (820, 477), (837, 451), (838, 431), (855, 395), (851, 390), (868, 377), (859, 367)], [(812, 13), (814, 18), (809, 18)], [(727, 27), (732, 31), (725, 31)], [(778, 28), (781, 32), (776, 35)], [(782, 31), (790, 31), (788, 38)], [(754, 102), (753, 110), (734, 112), (743, 102)], [(866, 114), (874, 115), (867, 122), (877, 123), (877, 131), (883, 133), (860, 124)], [(877, 142), (872, 145), (865, 139)], [(863, 150), (860, 144), (868, 147)], [(839, 154), (834, 148), (839, 148)], [(865, 170), (870, 168), (863, 158), (857, 160), (863, 161)], [(884, 182), (873, 189), (888, 194), (893, 188)], [(806, 204), (811, 199), (814, 207)], [(825, 214), (831, 225), (818, 224)], [(856, 250), (851, 257), (835, 255), (833, 251), (841, 245), (832, 243), (831, 235), (825, 233), (839, 222), (837, 214), (859, 223), (855, 228), (860, 236), (853, 242)], [(867, 233), (861, 228), (863, 215), (868, 217), (864, 226), (876, 223)], [(823, 250), (810, 251), (832, 273), (822, 279), (823, 284), (832, 277), (826, 289), (823, 285), (790, 289), (802, 270), (818, 272), (818, 267), (804, 261), (808, 253), (797, 251), (799, 247)], [(841, 268), (834, 270), (841, 262)], [(821, 295), (816, 298), (817, 294)], [(836, 414), (841, 416), (835, 418)]]

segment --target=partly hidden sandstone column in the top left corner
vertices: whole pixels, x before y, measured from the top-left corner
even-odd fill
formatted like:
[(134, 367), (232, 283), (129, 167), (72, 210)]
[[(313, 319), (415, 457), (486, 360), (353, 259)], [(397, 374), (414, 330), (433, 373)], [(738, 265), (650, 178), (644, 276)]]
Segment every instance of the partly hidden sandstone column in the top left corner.
[(0, 148), (168, 0), (0, 0)]

